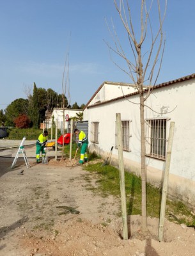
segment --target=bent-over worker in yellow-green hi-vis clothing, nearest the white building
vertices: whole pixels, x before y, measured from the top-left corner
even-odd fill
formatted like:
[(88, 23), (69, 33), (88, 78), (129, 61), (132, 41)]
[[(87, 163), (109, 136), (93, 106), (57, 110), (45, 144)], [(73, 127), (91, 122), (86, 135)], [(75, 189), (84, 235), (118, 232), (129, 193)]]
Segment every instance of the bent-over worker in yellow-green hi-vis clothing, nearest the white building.
[(84, 131), (79, 131), (78, 129), (74, 129), (74, 133), (79, 135), (77, 149), (81, 147), (81, 156), (78, 164), (80, 165), (83, 163), (87, 163), (88, 162), (88, 154), (87, 154), (88, 138), (86, 137), (86, 134), (84, 133)]

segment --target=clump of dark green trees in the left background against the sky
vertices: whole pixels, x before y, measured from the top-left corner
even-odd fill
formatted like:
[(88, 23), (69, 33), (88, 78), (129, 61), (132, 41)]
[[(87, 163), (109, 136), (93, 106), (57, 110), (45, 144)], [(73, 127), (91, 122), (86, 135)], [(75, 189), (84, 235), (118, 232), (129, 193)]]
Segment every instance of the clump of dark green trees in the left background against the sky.
[[(54, 108), (63, 107), (63, 94), (54, 92), (51, 88), (38, 88), (36, 83), (33, 84), (33, 93), (30, 88), (26, 89), (27, 99), (16, 99), (5, 109), (0, 112), (0, 125), (3, 123), (8, 126), (15, 126), (15, 118), (26, 115), (31, 120), (29, 126), (38, 128), (40, 123), (45, 120), (45, 114), (51, 113)], [(82, 109), (77, 102), (72, 106), (68, 104), (65, 97), (65, 108)], [(84, 104), (82, 104), (84, 106)]]

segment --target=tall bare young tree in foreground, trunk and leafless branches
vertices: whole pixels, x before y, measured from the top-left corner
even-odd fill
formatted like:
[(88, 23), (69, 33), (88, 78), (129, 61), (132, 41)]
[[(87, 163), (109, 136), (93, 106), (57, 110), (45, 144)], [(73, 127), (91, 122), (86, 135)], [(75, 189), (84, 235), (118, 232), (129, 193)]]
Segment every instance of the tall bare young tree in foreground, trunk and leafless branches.
[[(140, 125), (141, 125), (141, 180), (142, 180), (142, 228), (147, 228), (146, 218), (146, 163), (145, 163), (145, 145), (144, 145), (144, 102), (150, 96), (153, 86), (157, 82), (159, 76), (162, 56), (164, 53), (164, 35), (162, 32), (162, 24), (166, 15), (167, 0), (164, 5), (160, 6), (160, 0), (136, 0), (134, 7), (139, 6), (139, 15), (135, 14), (132, 6), (133, 1), (129, 0), (113, 0), (120, 20), (125, 29), (126, 39), (129, 42), (129, 48), (125, 52), (122, 41), (119, 39), (116, 28), (112, 22), (113, 28), (110, 29), (107, 24), (111, 36), (113, 37), (114, 47), (106, 43), (109, 49), (115, 52), (127, 64), (127, 68), (122, 68), (116, 62), (115, 65), (125, 72), (131, 81), (136, 85), (139, 92), (139, 108), (140, 108)], [(162, 1), (161, 1), (162, 3)], [(156, 9), (155, 9), (156, 8)], [(164, 9), (162, 11), (162, 8)], [(156, 18), (155, 15), (158, 15)], [(136, 20), (133, 21), (133, 17)], [(153, 19), (152, 19), (153, 18)], [(152, 24), (152, 20), (153, 23)], [(138, 35), (138, 36), (137, 36)], [(149, 46), (148, 46), (149, 45)], [(147, 49), (148, 47), (148, 49)], [(130, 56), (129, 56), (130, 49)], [(129, 56), (129, 57), (128, 57)], [(144, 84), (148, 83), (145, 87)]]

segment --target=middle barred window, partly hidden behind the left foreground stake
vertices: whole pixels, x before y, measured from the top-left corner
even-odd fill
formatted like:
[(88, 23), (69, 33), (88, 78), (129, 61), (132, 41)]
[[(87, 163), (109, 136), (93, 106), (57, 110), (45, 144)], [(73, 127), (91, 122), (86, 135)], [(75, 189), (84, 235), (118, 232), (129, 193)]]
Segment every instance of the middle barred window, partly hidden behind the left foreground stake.
[[(116, 127), (116, 125), (115, 125)], [(115, 128), (116, 131), (116, 128)], [(130, 121), (121, 121), (123, 150), (130, 151)], [(117, 133), (115, 132), (115, 148), (118, 148)]]

